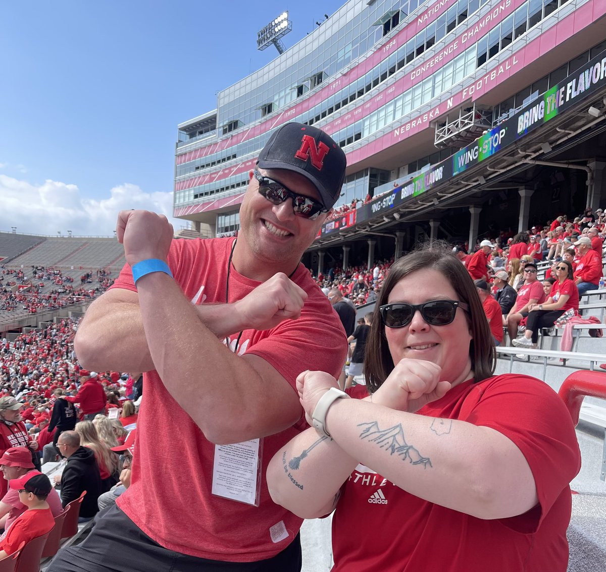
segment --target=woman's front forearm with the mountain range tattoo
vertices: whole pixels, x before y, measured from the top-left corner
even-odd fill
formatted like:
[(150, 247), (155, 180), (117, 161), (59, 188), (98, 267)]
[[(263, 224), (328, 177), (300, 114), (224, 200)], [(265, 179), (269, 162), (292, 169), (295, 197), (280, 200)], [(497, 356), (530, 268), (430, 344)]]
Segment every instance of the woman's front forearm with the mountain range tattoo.
[(326, 420), (345, 453), (419, 498), (485, 519), (537, 502), (528, 462), (496, 430), (355, 399), (336, 401)]

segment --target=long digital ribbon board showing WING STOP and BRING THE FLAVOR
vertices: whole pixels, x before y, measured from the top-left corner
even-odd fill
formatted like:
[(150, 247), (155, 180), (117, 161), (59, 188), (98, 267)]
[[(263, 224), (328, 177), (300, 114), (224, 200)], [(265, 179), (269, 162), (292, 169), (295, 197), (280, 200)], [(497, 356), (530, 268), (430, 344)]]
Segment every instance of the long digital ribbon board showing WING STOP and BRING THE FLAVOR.
[[(431, 165), (424, 173), (347, 214), (355, 215), (353, 224), (364, 222), (376, 215), (386, 215), (396, 206), (419, 197), (434, 186), (492, 157), (604, 86), (606, 86), (606, 51), (598, 54), (588, 64), (546, 91), (542, 97), (525, 105), (512, 117), (499, 123), (448, 159)], [(351, 226), (351, 223), (347, 226)], [(340, 223), (340, 219), (331, 220), (322, 227), (319, 234), (324, 236), (341, 228), (345, 226)]]

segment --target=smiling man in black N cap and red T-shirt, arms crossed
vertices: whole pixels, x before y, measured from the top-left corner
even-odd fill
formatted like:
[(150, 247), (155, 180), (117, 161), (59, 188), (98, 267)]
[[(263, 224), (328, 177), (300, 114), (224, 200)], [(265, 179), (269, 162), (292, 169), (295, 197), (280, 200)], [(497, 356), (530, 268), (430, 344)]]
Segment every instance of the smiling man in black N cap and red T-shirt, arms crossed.
[(237, 238), (173, 240), (162, 215), (118, 215), (127, 264), (75, 349), (99, 371), (147, 372), (132, 480), (50, 570), (301, 569), (302, 521), (271, 502), (264, 475), (304, 427), (298, 374), (345, 361), (341, 323), (300, 263), (345, 165), (324, 131), (285, 123), (248, 173)]

